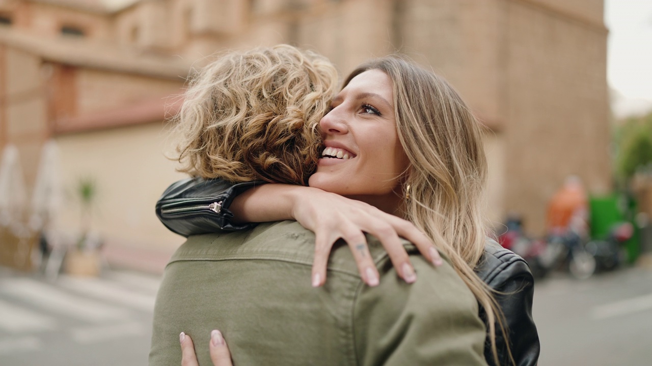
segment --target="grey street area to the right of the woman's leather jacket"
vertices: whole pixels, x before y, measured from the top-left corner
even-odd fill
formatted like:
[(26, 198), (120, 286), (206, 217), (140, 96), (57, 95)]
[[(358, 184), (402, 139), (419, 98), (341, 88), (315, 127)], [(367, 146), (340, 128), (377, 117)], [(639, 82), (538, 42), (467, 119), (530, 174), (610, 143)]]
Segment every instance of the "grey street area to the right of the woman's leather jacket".
[(652, 365), (652, 270), (626, 268), (535, 286), (539, 366)]

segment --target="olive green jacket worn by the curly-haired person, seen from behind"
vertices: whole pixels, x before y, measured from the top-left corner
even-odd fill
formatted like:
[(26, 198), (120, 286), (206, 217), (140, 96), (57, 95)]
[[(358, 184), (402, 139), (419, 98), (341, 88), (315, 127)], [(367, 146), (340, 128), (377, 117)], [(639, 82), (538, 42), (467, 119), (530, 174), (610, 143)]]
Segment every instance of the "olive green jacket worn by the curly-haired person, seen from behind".
[(336, 245), (325, 286), (313, 288), (314, 234), (295, 221), (191, 236), (158, 290), (149, 365), (181, 365), (181, 331), (200, 365), (212, 365), (213, 329), (236, 366), (486, 365), (477, 301), (452, 266), (434, 268), (406, 242), (417, 272), (408, 285), (367, 239), (379, 286), (366, 286)]

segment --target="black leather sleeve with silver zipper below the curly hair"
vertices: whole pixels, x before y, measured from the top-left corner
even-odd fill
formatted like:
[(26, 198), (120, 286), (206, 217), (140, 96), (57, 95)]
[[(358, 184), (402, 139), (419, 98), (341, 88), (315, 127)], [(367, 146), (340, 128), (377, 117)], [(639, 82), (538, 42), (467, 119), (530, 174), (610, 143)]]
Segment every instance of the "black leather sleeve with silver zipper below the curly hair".
[(156, 216), (168, 229), (190, 236), (251, 229), (256, 223), (233, 223), (233, 199), (262, 182), (230, 183), (221, 179), (187, 178), (172, 184), (156, 202)]

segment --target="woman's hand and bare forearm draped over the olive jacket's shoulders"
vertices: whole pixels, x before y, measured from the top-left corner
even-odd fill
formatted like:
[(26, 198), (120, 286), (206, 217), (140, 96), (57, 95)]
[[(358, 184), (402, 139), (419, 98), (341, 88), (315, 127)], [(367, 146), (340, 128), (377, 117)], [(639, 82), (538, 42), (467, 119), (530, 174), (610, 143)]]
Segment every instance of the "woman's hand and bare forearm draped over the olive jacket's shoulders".
[(378, 270), (369, 253), (364, 232), (380, 240), (396, 272), (408, 283), (413, 283), (417, 277), (399, 236), (412, 242), (435, 266), (441, 264), (439, 252), (430, 239), (411, 222), (370, 204), (318, 188), (265, 184), (236, 197), (231, 210), (240, 221), (295, 219), (313, 231), (316, 236), (312, 266), (314, 287), (325, 283), (328, 257), (339, 238), (351, 247), (363, 281), (370, 286), (378, 285)]

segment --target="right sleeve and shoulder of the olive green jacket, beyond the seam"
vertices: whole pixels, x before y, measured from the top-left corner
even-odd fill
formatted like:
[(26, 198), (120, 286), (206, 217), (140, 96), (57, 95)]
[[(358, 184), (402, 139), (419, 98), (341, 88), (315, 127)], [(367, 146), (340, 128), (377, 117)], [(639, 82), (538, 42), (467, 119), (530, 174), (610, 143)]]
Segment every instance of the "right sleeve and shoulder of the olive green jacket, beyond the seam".
[(486, 330), (475, 296), (445, 262), (435, 268), (419, 255), (411, 285), (389, 262), (378, 287), (362, 287), (355, 304), (359, 365), (486, 365)]

